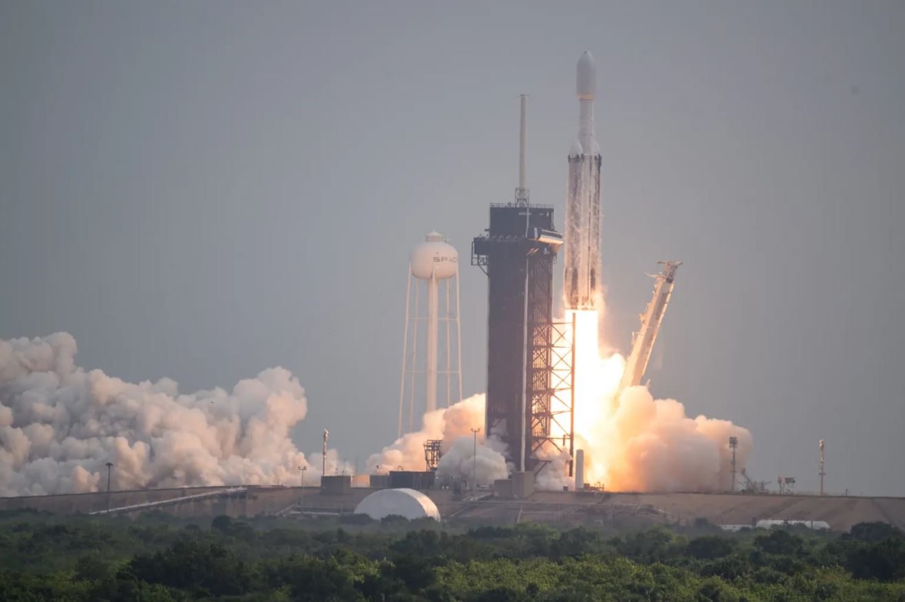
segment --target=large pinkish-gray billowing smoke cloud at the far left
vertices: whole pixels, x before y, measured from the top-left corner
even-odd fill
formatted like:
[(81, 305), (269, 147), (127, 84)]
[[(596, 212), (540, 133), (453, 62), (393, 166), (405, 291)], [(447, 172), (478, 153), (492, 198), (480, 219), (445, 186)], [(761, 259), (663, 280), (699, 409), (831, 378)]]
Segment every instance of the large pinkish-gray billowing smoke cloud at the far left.
[[(230, 392), (181, 394), (170, 378), (135, 384), (78, 368), (75, 354), (65, 332), (0, 340), (0, 495), (98, 491), (108, 462), (117, 489), (297, 484), (300, 467), (320, 474), (320, 454), (309, 463), (291, 441), (307, 402), (284, 368)], [(338, 468), (330, 450), (328, 472)]]

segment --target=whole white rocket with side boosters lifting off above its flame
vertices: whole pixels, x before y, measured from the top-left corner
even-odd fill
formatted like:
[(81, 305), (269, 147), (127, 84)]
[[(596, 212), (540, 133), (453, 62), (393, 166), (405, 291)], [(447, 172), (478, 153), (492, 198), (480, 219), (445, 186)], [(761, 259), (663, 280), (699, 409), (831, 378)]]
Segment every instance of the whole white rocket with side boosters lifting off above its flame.
[(601, 302), (600, 287), (600, 146), (594, 136), (594, 56), (578, 59), (578, 137), (568, 154), (566, 200), (566, 308), (593, 310)]

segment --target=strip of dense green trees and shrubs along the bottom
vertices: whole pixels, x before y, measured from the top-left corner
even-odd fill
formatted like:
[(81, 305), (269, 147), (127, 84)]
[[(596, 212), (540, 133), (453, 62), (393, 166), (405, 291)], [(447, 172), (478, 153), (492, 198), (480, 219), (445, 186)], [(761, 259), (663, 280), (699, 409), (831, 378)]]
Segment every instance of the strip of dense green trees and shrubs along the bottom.
[(905, 535), (0, 514), (6, 600), (898, 600)]

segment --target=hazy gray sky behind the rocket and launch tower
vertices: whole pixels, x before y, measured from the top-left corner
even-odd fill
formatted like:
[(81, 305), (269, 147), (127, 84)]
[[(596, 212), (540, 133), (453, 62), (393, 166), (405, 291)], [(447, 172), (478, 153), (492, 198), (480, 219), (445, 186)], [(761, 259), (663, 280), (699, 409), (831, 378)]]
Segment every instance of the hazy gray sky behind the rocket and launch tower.
[[(453, 4), (455, 6), (453, 6)], [(0, 0), (0, 337), (186, 390), (290, 368), (296, 440), (395, 437), (409, 248), (463, 259), (485, 381), (488, 204), (562, 224), (597, 60), (608, 338), (681, 259), (652, 389), (751, 430), (749, 472), (905, 494), (905, 4)], [(557, 284), (561, 276), (557, 275)]]

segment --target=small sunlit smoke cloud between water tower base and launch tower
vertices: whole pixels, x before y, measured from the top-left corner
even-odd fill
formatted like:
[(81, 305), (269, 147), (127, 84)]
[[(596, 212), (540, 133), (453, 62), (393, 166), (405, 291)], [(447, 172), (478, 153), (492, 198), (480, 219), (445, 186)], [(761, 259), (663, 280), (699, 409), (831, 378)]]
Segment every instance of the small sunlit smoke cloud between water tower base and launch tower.
[[(424, 415), (421, 430), (406, 433), (379, 454), (367, 459), (368, 471), (423, 471), (424, 442), (430, 439), (443, 441), (443, 457), (437, 465), (438, 475), (472, 481), (476, 473), (478, 484), (487, 485), (494, 479), (505, 479), (509, 473), (503, 456), (505, 444), (495, 437), (484, 438), (484, 395), (462, 399), (447, 408)], [(474, 461), (472, 428), (481, 428), (478, 434), (477, 462)], [(475, 470), (476, 469), (476, 470)]]

